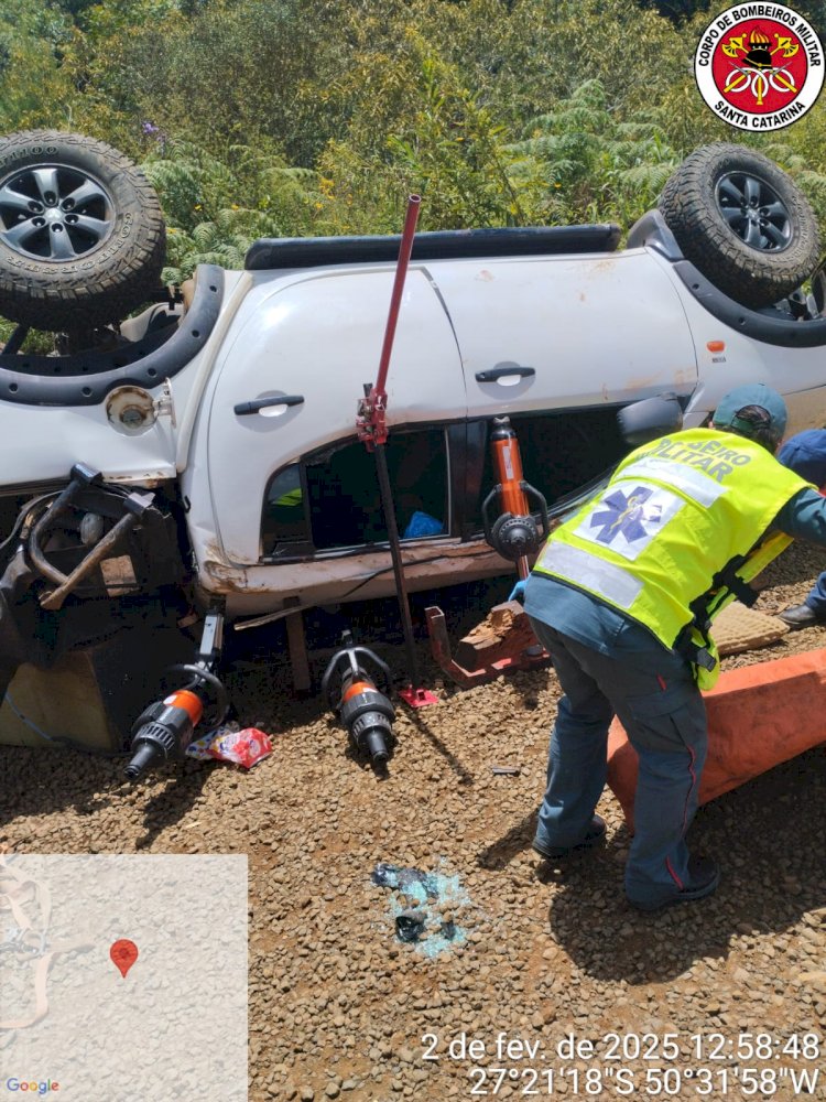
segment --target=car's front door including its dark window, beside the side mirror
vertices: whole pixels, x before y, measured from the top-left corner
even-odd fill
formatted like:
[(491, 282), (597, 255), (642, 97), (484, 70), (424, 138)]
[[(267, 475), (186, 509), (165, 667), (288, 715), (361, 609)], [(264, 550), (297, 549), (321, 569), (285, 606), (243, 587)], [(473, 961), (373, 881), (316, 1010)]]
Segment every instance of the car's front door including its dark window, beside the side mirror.
[(681, 300), (642, 249), (457, 260), (433, 268), (461, 352), (469, 437), (485, 456), (466, 521), (494, 485), (490, 419), (507, 413), (526, 480), (554, 509), (628, 453), (617, 410), (691, 395), (697, 358)]

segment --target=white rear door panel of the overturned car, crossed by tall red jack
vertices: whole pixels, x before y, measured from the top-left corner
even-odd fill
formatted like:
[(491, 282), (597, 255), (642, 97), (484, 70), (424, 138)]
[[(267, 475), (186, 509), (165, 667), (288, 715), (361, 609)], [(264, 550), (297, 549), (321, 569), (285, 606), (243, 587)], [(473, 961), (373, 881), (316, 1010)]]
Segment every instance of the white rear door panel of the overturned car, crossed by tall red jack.
[[(262, 273), (247, 295), (216, 364), (208, 413), (209, 493), (229, 562), (261, 562), (262, 510), (278, 472), (355, 440), (358, 399), (376, 379), (393, 273), (392, 267)], [(391, 426), (466, 415), (456, 338), (421, 267), (407, 272), (387, 390)], [(268, 399), (273, 403), (247, 412)], [(289, 504), (301, 487), (284, 486), (279, 501)], [(261, 568), (268, 569), (279, 566)]]

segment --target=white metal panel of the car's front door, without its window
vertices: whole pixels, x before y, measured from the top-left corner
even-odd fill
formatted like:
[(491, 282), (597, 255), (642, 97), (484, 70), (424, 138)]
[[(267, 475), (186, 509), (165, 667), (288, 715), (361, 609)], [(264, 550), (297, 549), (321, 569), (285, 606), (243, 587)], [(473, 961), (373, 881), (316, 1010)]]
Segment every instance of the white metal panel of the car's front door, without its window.
[(697, 357), (666, 273), (643, 249), (443, 262), (468, 414), (689, 395)]

